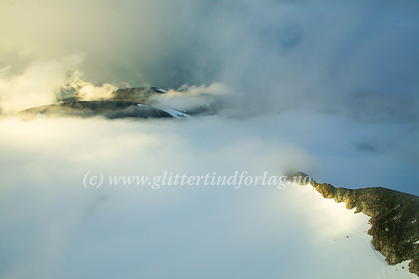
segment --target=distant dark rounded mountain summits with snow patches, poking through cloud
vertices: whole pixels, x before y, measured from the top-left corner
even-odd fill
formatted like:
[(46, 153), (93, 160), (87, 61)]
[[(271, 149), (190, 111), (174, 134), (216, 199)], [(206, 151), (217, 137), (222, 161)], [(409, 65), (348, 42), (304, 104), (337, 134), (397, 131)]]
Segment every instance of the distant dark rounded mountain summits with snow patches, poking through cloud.
[(154, 96), (166, 94), (168, 91), (158, 87), (120, 88), (107, 98), (84, 100), (83, 96), (61, 92), (56, 104), (41, 105), (22, 110), (18, 113), (23, 120), (31, 120), (36, 115), (45, 116), (75, 116), (91, 117), (103, 116), (107, 119), (115, 118), (189, 118), (189, 115), (215, 114), (219, 107), (214, 104), (202, 104), (178, 111), (173, 108), (160, 106), (153, 99)]

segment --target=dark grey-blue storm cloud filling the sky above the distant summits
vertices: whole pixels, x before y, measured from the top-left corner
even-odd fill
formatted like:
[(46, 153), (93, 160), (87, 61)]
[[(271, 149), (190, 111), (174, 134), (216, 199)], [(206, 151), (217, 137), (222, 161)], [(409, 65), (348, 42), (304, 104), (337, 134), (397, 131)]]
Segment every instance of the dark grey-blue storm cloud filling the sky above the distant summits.
[(1, 10), (1, 64), (12, 70), (78, 50), (96, 85), (223, 82), (259, 110), (418, 117), (415, 2), (29, 1)]

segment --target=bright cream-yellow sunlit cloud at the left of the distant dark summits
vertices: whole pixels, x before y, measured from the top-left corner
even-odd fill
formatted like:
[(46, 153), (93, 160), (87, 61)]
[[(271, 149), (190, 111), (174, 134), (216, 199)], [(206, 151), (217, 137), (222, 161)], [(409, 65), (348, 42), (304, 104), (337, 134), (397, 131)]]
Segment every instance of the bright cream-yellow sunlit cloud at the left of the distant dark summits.
[(11, 66), (0, 69), (2, 114), (15, 114), (75, 95), (84, 101), (110, 98), (116, 86), (109, 83), (95, 86), (77, 70), (84, 57), (84, 54), (74, 53), (61, 61), (35, 61), (21, 74), (12, 74)]

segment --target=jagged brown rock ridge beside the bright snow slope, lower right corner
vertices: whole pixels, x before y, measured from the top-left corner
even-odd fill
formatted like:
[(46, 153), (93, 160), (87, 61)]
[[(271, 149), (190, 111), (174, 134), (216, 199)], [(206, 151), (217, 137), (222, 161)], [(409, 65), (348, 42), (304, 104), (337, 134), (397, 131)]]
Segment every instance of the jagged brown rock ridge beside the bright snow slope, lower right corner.
[[(308, 176), (297, 173), (293, 176)], [(290, 177), (290, 176), (288, 176)], [(361, 189), (336, 188), (328, 183), (311, 185), (327, 199), (345, 202), (347, 209), (356, 208), (371, 217), (371, 229), (375, 248), (389, 265), (411, 260), (409, 271), (419, 277), (419, 197), (383, 187)], [(416, 244), (415, 244), (416, 243)]]

